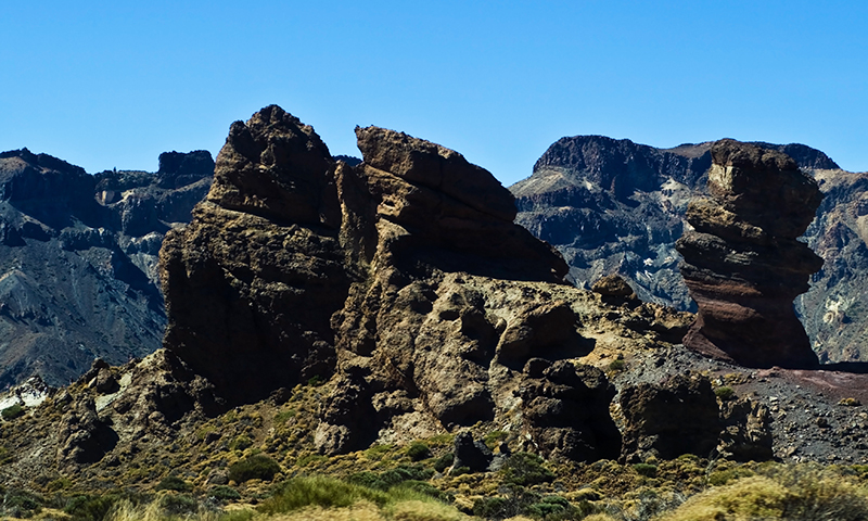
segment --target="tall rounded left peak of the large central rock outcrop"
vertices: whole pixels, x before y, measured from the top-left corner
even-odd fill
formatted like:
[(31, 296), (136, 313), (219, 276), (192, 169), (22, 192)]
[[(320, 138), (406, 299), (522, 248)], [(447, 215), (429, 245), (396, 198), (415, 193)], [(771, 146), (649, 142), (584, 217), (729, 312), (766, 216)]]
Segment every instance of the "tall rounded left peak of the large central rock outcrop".
[(331, 315), (353, 274), (335, 163), (277, 106), (235, 122), (206, 200), (161, 251), (165, 345), (234, 401), (331, 377)]

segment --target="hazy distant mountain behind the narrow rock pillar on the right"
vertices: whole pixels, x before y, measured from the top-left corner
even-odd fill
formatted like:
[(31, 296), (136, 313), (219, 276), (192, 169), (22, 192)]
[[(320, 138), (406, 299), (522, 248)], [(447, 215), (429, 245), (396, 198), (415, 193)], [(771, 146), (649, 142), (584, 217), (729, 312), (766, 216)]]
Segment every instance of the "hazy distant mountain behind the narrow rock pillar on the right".
[[(866, 175), (841, 170), (803, 144), (753, 144), (790, 155), (818, 181), (825, 199), (802, 240), (826, 265), (796, 298), (796, 313), (821, 361), (864, 359), (868, 353), (858, 339), (868, 322), (857, 295), (865, 291), (859, 201)], [(516, 221), (563, 254), (579, 287), (617, 272), (642, 300), (695, 310), (678, 272), (675, 241), (689, 227), (688, 203), (709, 195), (711, 145), (656, 149), (600, 136), (563, 138), (529, 178), (510, 187)]]

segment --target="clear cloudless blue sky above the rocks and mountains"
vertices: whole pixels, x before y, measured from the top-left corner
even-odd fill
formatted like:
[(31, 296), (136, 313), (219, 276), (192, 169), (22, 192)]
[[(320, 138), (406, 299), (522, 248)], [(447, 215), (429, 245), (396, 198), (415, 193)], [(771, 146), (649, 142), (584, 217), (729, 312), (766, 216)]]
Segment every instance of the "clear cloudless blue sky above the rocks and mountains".
[(277, 103), (333, 154), (379, 125), (510, 185), (563, 136), (803, 142), (868, 170), (864, 1), (4, 1), (0, 150), (88, 171), (215, 155)]

